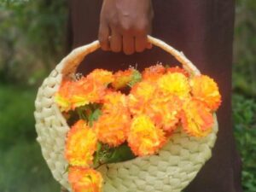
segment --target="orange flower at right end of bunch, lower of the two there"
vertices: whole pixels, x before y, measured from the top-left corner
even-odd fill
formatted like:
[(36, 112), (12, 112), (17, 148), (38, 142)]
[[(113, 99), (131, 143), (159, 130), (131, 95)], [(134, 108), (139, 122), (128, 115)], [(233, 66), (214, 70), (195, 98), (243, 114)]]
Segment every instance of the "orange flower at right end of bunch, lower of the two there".
[(193, 137), (206, 137), (213, 126), (213, 116), (204, 103), (189, 99), (183, 103), (181, 115), (183, 131)]

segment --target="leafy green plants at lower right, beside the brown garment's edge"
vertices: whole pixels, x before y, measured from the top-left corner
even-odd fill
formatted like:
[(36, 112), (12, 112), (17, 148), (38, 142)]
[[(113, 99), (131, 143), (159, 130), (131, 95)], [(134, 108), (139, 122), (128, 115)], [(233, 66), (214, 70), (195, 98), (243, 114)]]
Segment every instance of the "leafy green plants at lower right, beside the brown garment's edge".
[(256, 101), (233, 96), (233, 120), (243, 163), (242, 186), (245, 192), (253, 192), (256, 191)]

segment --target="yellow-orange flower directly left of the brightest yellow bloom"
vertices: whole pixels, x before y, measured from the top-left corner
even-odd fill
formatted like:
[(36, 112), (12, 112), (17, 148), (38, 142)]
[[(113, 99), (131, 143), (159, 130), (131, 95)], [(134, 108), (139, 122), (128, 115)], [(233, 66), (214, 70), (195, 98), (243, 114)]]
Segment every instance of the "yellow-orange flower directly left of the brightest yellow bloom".
[(144, 113), (150, 99), (154, 96), (155, 85), (149, 81), (142, 81), (131, 88), (128, 96), (128, 106), (132, 114)]

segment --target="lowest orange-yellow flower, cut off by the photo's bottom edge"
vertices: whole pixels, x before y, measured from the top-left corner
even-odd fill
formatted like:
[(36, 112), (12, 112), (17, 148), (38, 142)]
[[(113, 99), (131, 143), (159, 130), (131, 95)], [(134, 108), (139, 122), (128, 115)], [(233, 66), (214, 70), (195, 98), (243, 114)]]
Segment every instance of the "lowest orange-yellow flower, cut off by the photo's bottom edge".
[(68, 182), (73, 192), (102, 192), (102, 174), (93, 169), (71, 166), (68, 170)]

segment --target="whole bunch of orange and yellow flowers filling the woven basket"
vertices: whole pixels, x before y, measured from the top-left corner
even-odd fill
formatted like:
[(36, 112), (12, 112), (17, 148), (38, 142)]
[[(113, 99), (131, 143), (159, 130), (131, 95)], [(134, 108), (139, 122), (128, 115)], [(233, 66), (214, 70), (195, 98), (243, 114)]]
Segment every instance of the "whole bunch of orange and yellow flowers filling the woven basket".
[(55, 95), (71, 129), (67, 134), (68, 180), (74, 192), (102, 191), (102, 164), (157, 154), (181, 129), (206, 137), (221, 102), (206, 75), (160, 64), (142, 73), (96, 69), (64, 79)]

